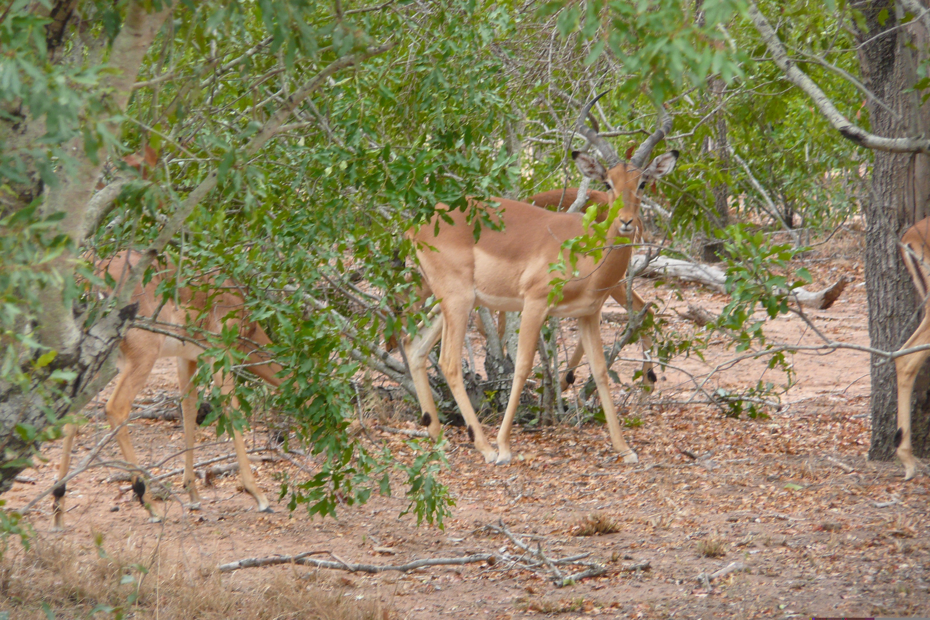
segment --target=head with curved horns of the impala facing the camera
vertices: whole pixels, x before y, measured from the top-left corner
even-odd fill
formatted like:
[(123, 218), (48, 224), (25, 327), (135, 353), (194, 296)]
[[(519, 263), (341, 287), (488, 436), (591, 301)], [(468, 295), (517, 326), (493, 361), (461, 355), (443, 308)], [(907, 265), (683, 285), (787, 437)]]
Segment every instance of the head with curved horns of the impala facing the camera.
[(617, 228), (619, 234), (632, 239), (636, 230), (641, 226), (639, 211), (642, 191), (649, 181), (664, 177), (671, 172), (675, 167), (675, 162), (678, 161), (678, 152), (662, 153), (652, 160), (651, 164), (644, 166), (658, 141), (665, 138), (666, 134), (671, 131), (671, 116), (659, 106), (659, 126), (656, 131), (645, 139), (639, 149), (633, 153), (629, 162), (622, 161), (613, 147), (598, 134), (597, 122), (592, 116), (591, 124), (594, 128), (585, 125), (585, 118), (589, 116), (591, 106), (605, 94), (606, 91), (588, 102), (575, 125), (575, 131), (587, 138), (589, 144), (601, 153), (604, 164), (587, 152), (572, 151), (572, 159), (575, 160), (575, 165), (578, 166), (582, 175), (604, 183), (610, 204), (614, 204), (614, 201), (622, 196), (623, 208), (617, 217)]

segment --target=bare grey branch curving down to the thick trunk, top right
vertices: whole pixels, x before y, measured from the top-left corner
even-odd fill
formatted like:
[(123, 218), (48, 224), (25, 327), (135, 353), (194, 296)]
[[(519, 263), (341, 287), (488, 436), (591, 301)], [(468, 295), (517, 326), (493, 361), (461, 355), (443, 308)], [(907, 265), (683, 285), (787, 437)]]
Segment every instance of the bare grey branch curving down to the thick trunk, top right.
[(788, 57), (785, 46), (782, 45), (777, 33), (768, 20), (765, 19), (755, 2), (750, 2), (749, 16), (756, 30), (762, 35), (763, 42), (768, 47), (768, 51), (778, 69), (785, 73), (785, 76), (794, 86), (801, 88), (808, 97), (814, 100), (820, 113), (845, 139), (852, 140), (859, 146), (874, 151), (923, 152), (930, 155), (930, 139), (883, 138), (850, 123), (849, 119), (836, 109), (836, 106), (833, 105), (833, 102), (830, 101), (830, 98), (820, 87), (806, 73), (798, 69), (797, 65)]

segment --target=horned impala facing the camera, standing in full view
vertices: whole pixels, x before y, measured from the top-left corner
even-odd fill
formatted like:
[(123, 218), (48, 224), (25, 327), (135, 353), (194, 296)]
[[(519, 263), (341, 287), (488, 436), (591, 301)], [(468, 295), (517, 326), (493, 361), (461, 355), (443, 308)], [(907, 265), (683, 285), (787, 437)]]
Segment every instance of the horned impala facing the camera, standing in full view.
[[(678, 152), (664, 153), (650, 165), (643, 166), (656, 143), (671, 130), (671, 117), (660, 110), (659, 128), (644, 141), (629, 164), (621, 162), (606, 141), (584, 125), (591, 106), (603, 95), (592, 99), (582, 110), (577, 131), (601, 152), (606, 167), (587, 153), (572, 152), (572, 158), (582, 174), (610, 188), (611, 204), (622, 196), (623, 208), (610, 224), (607, 241), (608, 244), (615, 239), (627, 241), (621, 242), (620, 247), (606, 247), (599, 261), (587, 255), (578, 257), (578, 276), (565, 277), (563, 296), (557, 303), (550, 305), (548, 301), (553, 275), (559, 275), (551, 273), (549, 266), (564, 254), (563, 242), (585, 234), (581, 214), (557, 213), (532, 204), (495, 198), (500, 209), (498, 215), (492, 217), (498, 218), (502, 230), (485, 229), (476, 242), (465, 214), (440, 203), (436, 205), (432, 221), (419, 230), (407, 231), (407, 236), (417, 244), (419, 270), (427, 289), (424, 293), (432, 293), (440, 299), (440, 311), (432, 313), (432, 323), (422, 327), (417, 336), (405, 338), (404, 342), (423, 413), (422, 423), (433, 439), (439, 437), (441, 426), (432, 400), (426, 362), (430, 350), (442, 338), (440, 368), (465, 418), (474, 447), (485, 456), (487, 463), (505, 465), (511, 461), (513, 416), (533, 365), (539, 328), (548, 315), (578, 318), (581, 343), (588, 352), (591, 374), (604, 404), (611, 443), (625, 463), (638, 461), (636, 453), (623, 440), (607, 384), (600, 332), (601, 306), (630, 263), (632, 248), (627, 242), (636, 237), (640, 226), (639, 191), (648, 180), (668, 174)], [(451, 219), (451, 223), (446, 218)], [(498, 431), (497, 451), (485, 439), (462, 380), (461, 350), (469, 316), (476, 305), (490, 310), (523, 312), (511, 395)]]

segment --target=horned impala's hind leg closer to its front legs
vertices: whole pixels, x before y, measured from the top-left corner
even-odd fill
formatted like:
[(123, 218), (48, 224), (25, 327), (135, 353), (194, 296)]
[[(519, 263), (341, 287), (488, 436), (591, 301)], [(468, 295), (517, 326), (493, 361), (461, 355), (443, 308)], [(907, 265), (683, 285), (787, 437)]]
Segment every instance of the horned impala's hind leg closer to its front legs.
[(443, 346), (439, 351), (439, 368), (445, 376), (445, 383), (456, 399), (458, 411), (465, 418), (469, 437), (475, 450), (485, 457), (485, 463), (493, 463), (498, 453), (487, 442), (481, 429), (481, 422), (472, 409), (472, 400), (465, 391), (465, 379), (462, 377), (462, 347), (465, 346), (465, 330), (468, 318), (474, 307), (474, 297), (443, 298)]

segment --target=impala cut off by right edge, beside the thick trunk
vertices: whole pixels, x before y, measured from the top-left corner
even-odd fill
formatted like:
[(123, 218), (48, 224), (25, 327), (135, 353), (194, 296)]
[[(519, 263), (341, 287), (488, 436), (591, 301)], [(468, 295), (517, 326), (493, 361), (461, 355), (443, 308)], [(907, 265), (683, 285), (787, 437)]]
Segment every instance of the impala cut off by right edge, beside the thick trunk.
[[(917, 287), (917, 292), (923, 300), (923, 321), (914, 330), (901, 349), (930, 345), (930, 218), (922, 219), (908, 229), (901, 237), (901, 257), (910, 271), (910, 278)], [(895, 359), (897, 370), (897, 432), (895, 433), (895, 448), (897, 457), (904, 465), (904, 480), (914, 477), (917, 468), (917, 459), (914, 458), (910, 446), (910, 397), (914, 389), (914, 380), (920, 372), (923, 363), (930, 356), (930, 350), (920, 350), (902, 355)]]

